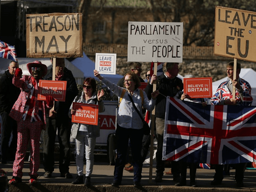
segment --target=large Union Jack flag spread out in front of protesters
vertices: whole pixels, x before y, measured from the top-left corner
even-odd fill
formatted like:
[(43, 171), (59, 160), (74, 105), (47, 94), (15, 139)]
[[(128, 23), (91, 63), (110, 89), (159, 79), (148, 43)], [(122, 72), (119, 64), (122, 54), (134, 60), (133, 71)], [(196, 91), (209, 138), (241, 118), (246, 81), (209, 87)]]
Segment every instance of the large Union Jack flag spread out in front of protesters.
[(163, 160), (256, 162), (256, 107), (207, 105), (168, 97)]

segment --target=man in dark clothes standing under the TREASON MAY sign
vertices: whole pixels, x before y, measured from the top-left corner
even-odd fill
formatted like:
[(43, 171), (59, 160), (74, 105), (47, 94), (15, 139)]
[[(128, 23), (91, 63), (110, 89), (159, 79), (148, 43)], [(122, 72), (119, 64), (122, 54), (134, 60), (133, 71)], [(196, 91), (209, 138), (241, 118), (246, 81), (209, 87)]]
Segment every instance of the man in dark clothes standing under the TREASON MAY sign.
[[(52, 72), (46, 77), (46, 80), (52, 80)], [(54, 102), (54, 109), (51, 109), (48, 116), (46, 116), (46, 130), (44, 131), (44, 178), (51, 178), (54, 171), (54, 144), (57, 130), (60, 144), (60, 177), (72, 178), (72, 175), (69, 173), (71, 119), (68, 117), (68, 112), (74, 98), (78, 94), (78, 89), (72, 72), (65, 67), (64, 58), (56, 58), (55, 80), (67, 82), (66, 98), (65, 102)]]

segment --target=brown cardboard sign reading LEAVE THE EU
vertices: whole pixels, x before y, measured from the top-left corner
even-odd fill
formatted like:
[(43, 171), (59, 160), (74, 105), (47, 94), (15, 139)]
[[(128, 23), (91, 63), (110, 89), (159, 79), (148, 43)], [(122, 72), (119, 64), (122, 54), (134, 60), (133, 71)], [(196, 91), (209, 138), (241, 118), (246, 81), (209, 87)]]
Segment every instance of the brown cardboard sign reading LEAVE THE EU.
[(256, 12), (216, 6), (214, 54), (256, 61)]

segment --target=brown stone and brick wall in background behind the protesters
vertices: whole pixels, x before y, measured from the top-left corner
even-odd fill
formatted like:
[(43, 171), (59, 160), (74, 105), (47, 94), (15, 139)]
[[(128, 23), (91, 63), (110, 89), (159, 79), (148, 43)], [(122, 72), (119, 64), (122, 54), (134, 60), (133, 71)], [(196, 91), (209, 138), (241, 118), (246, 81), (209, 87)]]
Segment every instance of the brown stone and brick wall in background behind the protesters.
[[(95, 53), (116, 53), (116, 73), (124, 75), (129, 71), (127, 62), (127, 45), (120, 44), (86, 44), (86, 55), (95, 62)], [(213, 47), (183, 46), (183, 62), (179, 64), (182, 76), (193, 74), (195, 77), (212, 77), (212, 81), (226, 76), (226, 64), (232, 58), (214, 55)], [(256, 63), (238, 60), (242, 68), (252, 68), (256, 71)], [(150, 62), (142, 63), (141, 77), (145, 79), (145, 73), (150, 68)]]

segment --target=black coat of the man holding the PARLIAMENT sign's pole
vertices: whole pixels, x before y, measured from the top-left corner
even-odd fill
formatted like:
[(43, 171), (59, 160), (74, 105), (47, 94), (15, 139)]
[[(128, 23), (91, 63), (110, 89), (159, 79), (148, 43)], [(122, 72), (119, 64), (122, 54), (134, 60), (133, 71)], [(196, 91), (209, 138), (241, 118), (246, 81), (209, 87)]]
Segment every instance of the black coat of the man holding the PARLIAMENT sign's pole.
[[(156, 97), (155, 116), (158, 118), (164, 119), (165, 109), (166, 109), (166, 97), (164, 96), (174, 97), (177, 94), (177, 92), (179, 92), (180, 90), (183, 90), (183, 83), (182, 83), (182, 80), (179, 79), (178, 77), (175, 77), (173, 79), (168, 79), (163, 73), (157, 77), (156, 90), (159, 90), (161, 94), (159, 94)], [(145, 92), (148, 98), (151, 99), (151, 93), (153, 92), (153, 85), (148, 84), (145, 89)]]

